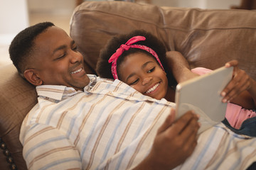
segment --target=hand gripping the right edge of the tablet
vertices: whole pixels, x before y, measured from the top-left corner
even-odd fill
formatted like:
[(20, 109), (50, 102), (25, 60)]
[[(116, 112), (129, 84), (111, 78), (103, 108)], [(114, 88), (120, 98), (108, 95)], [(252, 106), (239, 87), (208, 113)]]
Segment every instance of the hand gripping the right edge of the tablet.
[[(223, 102), (231, 101), (245, 108), (254, 108), (256, 98), (256, 82), (242, 69), (238, 67), (238, 61), (232, 60), (225, 64), (225, 67), (234, 67), (233, 78), (221, 92)], [(245, 101), (245, 102), (243, 102)]]

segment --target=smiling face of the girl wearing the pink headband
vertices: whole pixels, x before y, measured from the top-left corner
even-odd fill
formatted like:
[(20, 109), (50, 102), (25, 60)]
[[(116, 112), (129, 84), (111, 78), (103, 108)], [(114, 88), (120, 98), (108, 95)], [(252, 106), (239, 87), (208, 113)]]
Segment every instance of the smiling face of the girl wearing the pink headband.
[(158, 62), (143, 52), (127, 55), (119, 65), (119, 79), (152, 98), (166, 96), (168, 80)]

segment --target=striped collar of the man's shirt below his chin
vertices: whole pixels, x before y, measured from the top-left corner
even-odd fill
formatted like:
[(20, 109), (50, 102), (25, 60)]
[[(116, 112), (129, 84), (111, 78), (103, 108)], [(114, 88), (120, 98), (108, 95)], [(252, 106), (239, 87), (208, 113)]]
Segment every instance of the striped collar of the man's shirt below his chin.
[[(92, 86), (97, 82), (97, 77), (93, 74), (87, 74), (90, 82), (85, 86), (84, 91), (89, 91)], [(36, 86), (36, 92), (38, 96), (43, 98), (51, 98), (53, 100), (61, 101), (65, 98), (69, 98), (75, 94), (81, 93), (82, 91), (76, 91), (73, 87), (60, 86), (60, 85), (41, 85)]]

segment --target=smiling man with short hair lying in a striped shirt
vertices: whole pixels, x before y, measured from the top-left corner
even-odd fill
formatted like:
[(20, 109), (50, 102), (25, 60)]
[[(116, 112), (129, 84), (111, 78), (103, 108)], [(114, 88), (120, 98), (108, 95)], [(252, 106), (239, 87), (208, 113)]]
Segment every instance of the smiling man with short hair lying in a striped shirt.
[(28, 169), (245, 169), (255, 162), (254, 138), (217, 125), (197, 140), (194, 113), (174, 121), (173, 103), (89, 78), (75, 42), (52, 23), (23, 30), (9, 51), (38, 93), (21, 126)]

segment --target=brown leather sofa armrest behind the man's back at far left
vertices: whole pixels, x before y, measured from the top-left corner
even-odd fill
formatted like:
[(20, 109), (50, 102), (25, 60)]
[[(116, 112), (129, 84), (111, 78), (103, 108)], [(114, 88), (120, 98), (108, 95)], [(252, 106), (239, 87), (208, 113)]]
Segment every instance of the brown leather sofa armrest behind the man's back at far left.
[(0, 87), (0, 169), (15, 165), (27, 169), (18, 139), (23, 119), (37, 103), (36, 89), (18, 75), (12, 64), (0, 67)]

